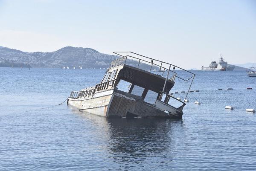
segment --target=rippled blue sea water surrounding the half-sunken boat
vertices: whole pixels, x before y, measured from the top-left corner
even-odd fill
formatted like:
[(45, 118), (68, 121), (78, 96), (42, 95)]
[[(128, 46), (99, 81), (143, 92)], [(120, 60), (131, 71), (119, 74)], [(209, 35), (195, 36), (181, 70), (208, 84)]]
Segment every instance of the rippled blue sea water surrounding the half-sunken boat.
[(256, 170), (256, 114), (245, 112), (256, 109), (256, 78), (195, 71), (199, 92), (189, 93), (182, 120), (106, 119), (66, 103), (41, 109), (104, 74), (0, 68), (0, 170)]

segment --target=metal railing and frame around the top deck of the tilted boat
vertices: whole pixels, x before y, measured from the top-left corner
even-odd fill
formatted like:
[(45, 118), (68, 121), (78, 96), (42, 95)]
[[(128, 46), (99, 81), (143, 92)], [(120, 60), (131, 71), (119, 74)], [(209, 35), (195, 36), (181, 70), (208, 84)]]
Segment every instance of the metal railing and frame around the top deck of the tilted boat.
[[(192, 85), (192, 82), (195, 78), (194, 73), (189, 72), (188, 70), (185, 70), (181, 67), (177, 67), (174, 64), (169, 64), (169, 63), (159, 61), (157, 59), (149, 58), (149, 57), (146, 57), (146, 56), (134, 53), (134, 52), (113, 52), (113, 53), (115, 53), (116, 55), (121, 56), (121, 58), (118, 58), (118, 59), (112, 61), (111, 64), (110, 64), (110, 68), (111, 67), (116, 67), (116, 66), (119, 66), (119, 65), (131, 65), (131, 63), (133, 63), (131, 66), (134, 67), (134, 61), (137, 61), (138, 64), (136, 64), (135, 67), (140, 68), (142, 70), (145, 70), (145, 69), (143, 69), (143, 65), (144, 65), (144, 67), (145, 66), (150, 66), (150, 69), (146, 70), (146, 71), (149, 71), (149, 72), (152, 72), (155, 68), (158, 68), (159, 69), (158, 72), (163, 72), (161, 76), (166, 78), (166, 81), (167, 80), (175, 81), (175, 78), (179, 78), (182, 81), (189, 81), (190, 79), (192, 79), (187, 92), (189, 92), (189, 90), (191, 88), (191, 85)], [(128, 55), (126, 55), (126, 54), (128, 54)], [(135, 56), (138, 56), (138, 57), (135, 57)], [(173, 70), (171, 70), (171, 68)], [(177, 74), (177, 72), (174, 71), (175, 68), (178, 68), (179, 70), (185, 71), (186, 73), (189, 73), (189, 75), (191, 75), (191, 76), (189, 76), (188, 78), (184, 78), (183, 76), (180, 76), (179, 74)], [(164, 73), (166, 73), (166, 72), (167, 72), (167, 74), (164, 75)], [(169, 78), (170, 72), (172, 73), (172, 76)], [(164, 86), (163, 86), (163, 91), (165, 90), (166, 81), (165, 81)], [(188, 95), (188, 93), (186, 94), (186, 97), (187, 97), (187, 95)], [(185, 99), (184, 99), (184, 102), (185, 102)]]

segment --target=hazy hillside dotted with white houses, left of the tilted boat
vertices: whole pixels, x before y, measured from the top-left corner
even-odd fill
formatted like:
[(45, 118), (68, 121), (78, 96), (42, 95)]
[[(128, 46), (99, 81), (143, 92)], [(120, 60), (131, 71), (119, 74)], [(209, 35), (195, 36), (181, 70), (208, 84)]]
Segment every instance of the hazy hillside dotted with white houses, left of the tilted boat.
[(0, 46), (0, 67), (11, 65), (38, 68), (95, 67), (107, 68), (116, 55), (95, 49), (67, 46), (54, 52), (23, 52)]

